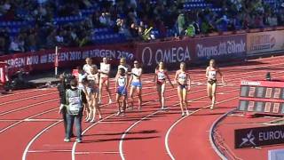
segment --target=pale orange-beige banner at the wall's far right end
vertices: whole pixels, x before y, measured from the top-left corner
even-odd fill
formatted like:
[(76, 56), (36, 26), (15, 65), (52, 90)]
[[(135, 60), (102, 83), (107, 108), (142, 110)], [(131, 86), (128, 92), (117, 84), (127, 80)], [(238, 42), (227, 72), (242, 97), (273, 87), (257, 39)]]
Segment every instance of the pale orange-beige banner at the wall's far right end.
[(247, 34), (248, 55), (284, 50), (284, 30)]

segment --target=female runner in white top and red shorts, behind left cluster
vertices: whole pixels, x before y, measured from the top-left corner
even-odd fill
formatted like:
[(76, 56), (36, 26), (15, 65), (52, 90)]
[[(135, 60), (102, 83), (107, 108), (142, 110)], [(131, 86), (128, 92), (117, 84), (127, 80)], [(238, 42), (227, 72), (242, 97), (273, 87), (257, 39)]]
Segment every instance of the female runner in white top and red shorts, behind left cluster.
[(108, 94), (108, 104), (111, 104), (112, 97), (109, 91), (109, 72), (110, 64), (108, 64), (106, 57), (103, 58), (103, 62), (100, 63), (100, 78), (99, 78), (99, 104), (101, 104), (103, 86), (106, 86), (106, 92)]

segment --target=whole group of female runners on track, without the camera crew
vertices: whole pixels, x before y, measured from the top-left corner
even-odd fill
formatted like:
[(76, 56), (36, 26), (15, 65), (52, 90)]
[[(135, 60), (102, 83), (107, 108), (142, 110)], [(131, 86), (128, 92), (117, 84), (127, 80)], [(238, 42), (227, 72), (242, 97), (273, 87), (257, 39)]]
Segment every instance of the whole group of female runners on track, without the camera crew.
[[(85, 109), (86, 122), (95, 122), (97, 113), (99, 114), (99, 119), (102, 118), (99, 105), (102, 104), (102, 91), (104, 87), (106, 88), (106, 93), (108, 95), (108, 103), (110, 104), (113, 102), (109, 85), (110, 71), (111, 66), (108, 63), (107, 58), (103, 58), (99, 68), (97, 65), (92, 64), (91, 58), (87, 58), (83, 69), (79, 68), (78, 88), (83, 90), (89, 104), (88, 108)], [(134, 61), (133, 68), (130, 68), (124, 58), (120, 60), (120, 65), (118, 66), (115, 76), (116, 116), (123, 116), (127, 107), (133, 108), (133, 95), (135, 92), (137, 92), (138, 95), (138, 109), (142, 107), (142, 73), (143, 71), (138, 60)], [(210, 60), (209, 67), (206, 68), (206, 77), (208, 96), (211, 100), (211, 109), (215, 107), (216, 103), (217, 74), (222, 77), (223, 82), (222, 73), (220, 72), (220, 69), (217, 68), (215, 60)], [(180, 63), (180, 68), (177, 70), (174, 78), (174, 84), (172, 83), (163, 62), (160, 62), (158, 67), (155, 68), (154, 83), (156, 84), (162, 110), (166, 109), (165, 91), (167, 82), (169, 82), (173, 88), (174, 84), (177, 84), (177, 95), (181, 108), (181, 116), (189, 115), (187, 108), (187, 92), (191, 89), (191, 78), (186, 71), (185, 62)], [(130, 95), (128, 95), (128, 88), (130, 88)]]

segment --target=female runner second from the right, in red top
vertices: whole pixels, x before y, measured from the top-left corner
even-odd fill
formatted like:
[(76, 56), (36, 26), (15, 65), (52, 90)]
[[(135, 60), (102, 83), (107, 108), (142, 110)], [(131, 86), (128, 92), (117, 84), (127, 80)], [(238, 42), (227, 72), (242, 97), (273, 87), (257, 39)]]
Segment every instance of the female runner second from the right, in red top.
[(189, 115), (187, 108), (187, 90), (190, 90), (190, 82), (190, 76), (185, 71), (185, 62), (181, 62), (180, 69), (177, 70), (175, 76), (175, 83), (177, 84), (177, 95), (179, 98), (179, 105), (182, 113), (181, 116)]

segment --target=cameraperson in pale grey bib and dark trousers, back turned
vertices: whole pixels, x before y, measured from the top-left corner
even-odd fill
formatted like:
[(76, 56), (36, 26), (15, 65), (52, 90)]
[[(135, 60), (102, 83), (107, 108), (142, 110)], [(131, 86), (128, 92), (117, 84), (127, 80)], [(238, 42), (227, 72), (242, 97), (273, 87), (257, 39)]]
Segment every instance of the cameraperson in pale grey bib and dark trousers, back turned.
[(78, 82), (76, 79), (71, 79), (70, 89), (66, 91), (67, 101), (67, 132), (64, 141), (70, 141), (73, 124), (76, 128), (76, 141), (82, 142), (82, 117), (83, 107), (88, 107), (86, 95), (82, 89), (77, 88)]

